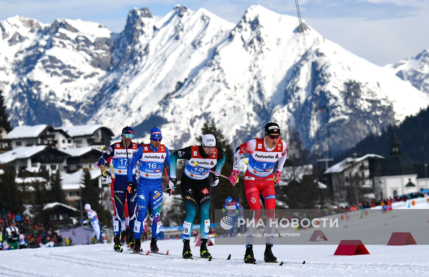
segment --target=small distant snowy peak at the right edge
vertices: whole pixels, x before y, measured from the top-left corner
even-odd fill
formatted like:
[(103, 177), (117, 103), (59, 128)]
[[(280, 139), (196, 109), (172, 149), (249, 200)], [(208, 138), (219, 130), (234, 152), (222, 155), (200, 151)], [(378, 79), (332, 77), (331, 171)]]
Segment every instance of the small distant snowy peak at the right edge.
[(410, 59), (385, 66), (402, 80), (409, 81), (418, 90), (429, 94), (429, 49)]

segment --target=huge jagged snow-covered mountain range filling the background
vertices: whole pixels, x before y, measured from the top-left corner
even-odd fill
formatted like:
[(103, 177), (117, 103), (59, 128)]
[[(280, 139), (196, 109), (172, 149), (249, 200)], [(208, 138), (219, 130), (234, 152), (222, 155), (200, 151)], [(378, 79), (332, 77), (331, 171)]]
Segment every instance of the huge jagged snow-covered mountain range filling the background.
[(312, 147), (326, 140), (329, 118), (340, 151), (429, 104), (427, 93), (304, 24), (308, 65), (298, 18), (262, 6), (238, 24), (175, 6), (163, 17), (132, 9), (119, 34), (22, 17), (1, 21), (0, 31), (0, 88), (13, 125), (104, 123), (116, 133), (129, 125), (139, 137), (158, 126), (178, 148), (207, 120), (233, 145), (274, 120)]

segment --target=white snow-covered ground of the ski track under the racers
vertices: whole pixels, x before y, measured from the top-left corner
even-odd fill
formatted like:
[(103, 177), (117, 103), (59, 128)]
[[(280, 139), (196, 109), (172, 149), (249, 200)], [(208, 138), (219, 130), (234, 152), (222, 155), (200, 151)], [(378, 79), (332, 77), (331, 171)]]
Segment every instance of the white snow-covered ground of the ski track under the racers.
[[(191, 245), (193, 241), (191, 241)], [(181, 259), (180, 240), (159, 241), (169, 256), (113, 252), (112, 244), (79, 245), (0, 252), (0, 276), (428, 276), (427, 245), (366, 245), (370, 255), (333, 256), (336, 245), (276, 245), (273, 253), (283, 266), (263, 262), (262, 245), (254, 246), (258, 265), (243, 262), (245, 247), (208, 247), (211, 262)], [(142, 243), (148, 250), (149, 242)], [(198, 256), (199, 247), (191, 247)], [(231, 254), (231, 260), (224, 260)], [(305, 264), (302, 262), (305, 261)]]

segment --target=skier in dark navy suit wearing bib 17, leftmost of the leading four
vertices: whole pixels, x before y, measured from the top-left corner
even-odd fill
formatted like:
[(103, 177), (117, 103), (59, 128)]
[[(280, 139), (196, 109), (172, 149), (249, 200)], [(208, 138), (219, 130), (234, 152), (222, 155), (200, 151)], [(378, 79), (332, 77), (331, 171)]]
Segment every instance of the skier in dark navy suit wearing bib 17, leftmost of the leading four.
[[(121, 134), (122, 140), (116, 142), (106, 150), (103, 157), (100, 158), (98, 164), (100, 165), (101, 175), (107, 178), (107, 171), (104, 167), (105, 161), (112, 157), (113, 172), (115, 174), (115, 187), (114, 187), (114, 198), (115, 198), (115, 220), (113, 220), (113, 232), (115, 236), (113, 238), (115, 251), (121, 250), (120, 232), (121, 232), (121, 218), (124, 213), (125, 198), (127, 198), (128, 213), (130, 215), (130, 229), (134, 229), (134, 221), (136, 220), (136, 195), (137, 195), (137, 181), (136, 181), (136, 166), (133, 167), (132, 171), (132, 182), (128, 182), (127, 177), (127, 166), (128, 161), (133, 157), (133, 154), (137, 151), (137, 144), (131, 140), (134, 137), (133, 128), (127, 126), (122, 129)], [(130, 232), (129, 238), (130, 247), (134, 247), (134, 233)]]

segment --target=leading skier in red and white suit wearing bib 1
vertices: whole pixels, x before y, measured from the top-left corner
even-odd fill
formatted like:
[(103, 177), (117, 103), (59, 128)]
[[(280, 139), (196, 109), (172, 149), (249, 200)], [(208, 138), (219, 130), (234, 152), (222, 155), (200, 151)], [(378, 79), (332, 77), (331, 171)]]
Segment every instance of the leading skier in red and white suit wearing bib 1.
[[(245, 173), (245, 191), (250, 209), (252, 210), (255, 223), (258, 222), (261, 214), (260, 196), (265, 206), (267, 219), (274, 219), (275, 190), (274, 185), (280, 181), (281, 170), (287, 158), (287, 144), (280, 139), (280, 127), (277, 123), (267, 123), (265, 125), (264, 138), (254, 138), (239, 145), (234, 153), (233, 172), (230, 175), (230, 182), (235, 185), (239, 180), (239, 162), (243, 153), (249, 154), (249, 162)], [(278, 161), (275, 174), (274, 166)], [(274, 228), (269, 228), (266, 224), (266, 233), (274, 234)], [(244, 261), (255, 263), (253, 255), (253, 241), (255, 228), (249, 227)], [(272, 254), (272, 236), (266, 237), (266, 249), (264, 260), (275, 262), (277, 258)]]

